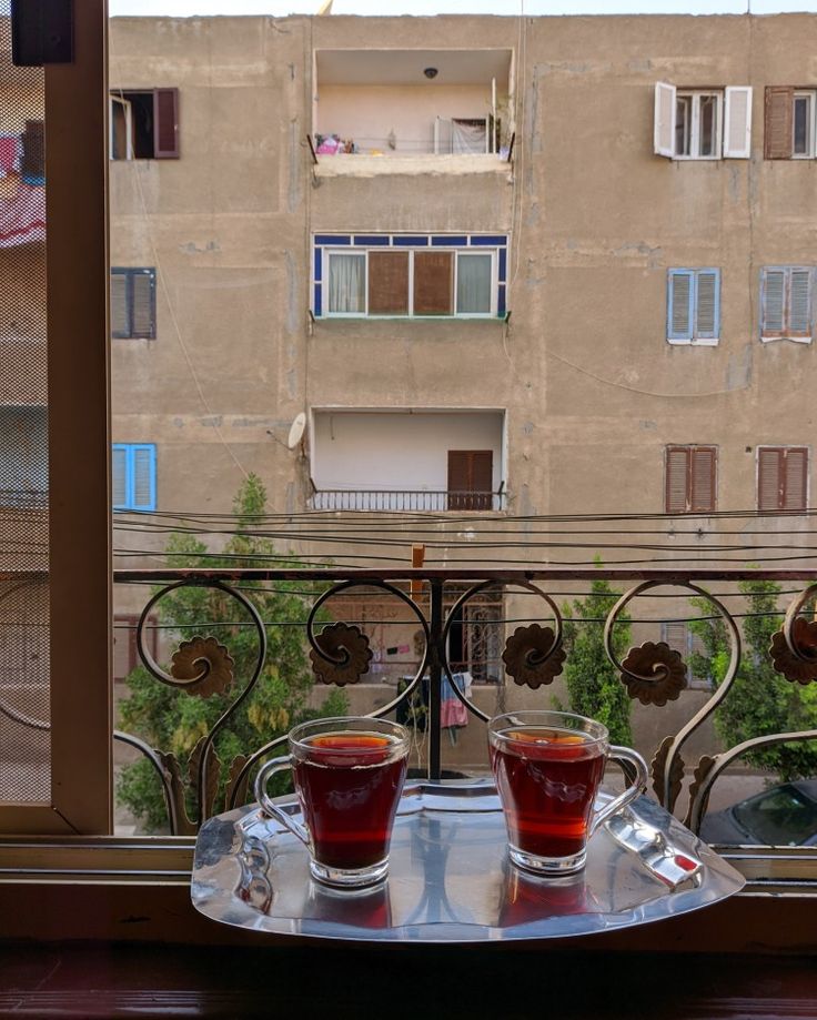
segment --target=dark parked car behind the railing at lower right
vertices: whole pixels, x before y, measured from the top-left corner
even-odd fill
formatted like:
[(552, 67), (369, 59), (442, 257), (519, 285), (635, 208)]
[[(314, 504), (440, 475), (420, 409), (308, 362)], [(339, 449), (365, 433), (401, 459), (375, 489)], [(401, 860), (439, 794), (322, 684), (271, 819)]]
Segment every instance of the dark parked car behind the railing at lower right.
[(817, 779), (780, 782), (704, 816), (707, 842), (817, 847)]

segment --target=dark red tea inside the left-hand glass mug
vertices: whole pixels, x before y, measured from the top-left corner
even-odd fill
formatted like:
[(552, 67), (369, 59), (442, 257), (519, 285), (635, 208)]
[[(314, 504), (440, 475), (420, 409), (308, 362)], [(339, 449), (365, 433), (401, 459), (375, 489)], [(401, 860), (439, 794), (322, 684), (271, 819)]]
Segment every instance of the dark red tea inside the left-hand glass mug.
[(315, 860), (333, 868), (366, 868), (389, 854), (406, 772), (397, 741), (381, 734), (310, 737), (295, 756), (295, 789), (312, 836)]

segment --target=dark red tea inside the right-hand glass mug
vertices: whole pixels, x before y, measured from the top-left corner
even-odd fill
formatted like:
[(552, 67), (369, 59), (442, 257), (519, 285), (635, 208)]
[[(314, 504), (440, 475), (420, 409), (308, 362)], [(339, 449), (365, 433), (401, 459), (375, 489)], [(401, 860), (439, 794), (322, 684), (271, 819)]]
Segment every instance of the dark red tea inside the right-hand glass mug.
[(508, 727), (491, 748), (508, 842), (537, 857), (572, 857), (587, 840), (604, 745), (566, 729)]

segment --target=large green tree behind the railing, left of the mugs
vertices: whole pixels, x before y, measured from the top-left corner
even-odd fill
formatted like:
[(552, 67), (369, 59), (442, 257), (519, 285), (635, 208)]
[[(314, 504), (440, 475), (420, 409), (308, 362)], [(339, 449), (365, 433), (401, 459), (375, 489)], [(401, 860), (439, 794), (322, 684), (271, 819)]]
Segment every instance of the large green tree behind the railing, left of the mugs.
[[(275, 554), (274, 544), (256, 531), (256, 522), (265, 508), (264, 486), (256, 475), (250, 475), (233, 501), (236, 528), (223, 551), (210, 554), (204, 543), (192, 534), (175, 532), (167, 544), (168, 566), (176, 569), (206, 566), (218, 570), (220, 567), (258, 566), (259, 559), (269, 561)], [(282, 569), (302, 566), (295, 559), (279, 565)], [(342, 690), (333, 690), (320, 711), (309, 707), (314, 681), (306, 659), (303, 625), (312, 598), (301, 594), (303, 583), (241, 582), (240, 588), (252, 599), (266, 624), (268, 654), (253, 693), (214, 743), (221, 761), (216, 799), (220, 805), (223, 805), (229, 765), (238, 755), (251, 754), (307, 718), (347, 711), (347, 698)], [(320, 586), (316, 587), (314, 595), (320, 590)], [(233, 686), (206, 698), (162, 684), (143, 666), (127, 679), (130, 697), (120, 709), (123, 727), (152, 747), (172, 753), (179, 759), (181, 775), (185, 776), (196, 745), (249, 680), (258, 659), (258, 632), (246, 609), (218, 588), (180, 588), (157, 603), (155, 614), (162, 633), (169, 637), (192, 640), (196, 636), (212, 635), (226, 646), (234, 662)], [(122, 770), (118, 792), (149, 829), (155, 830), (167, 824), (160, 784), (147, 759)]]

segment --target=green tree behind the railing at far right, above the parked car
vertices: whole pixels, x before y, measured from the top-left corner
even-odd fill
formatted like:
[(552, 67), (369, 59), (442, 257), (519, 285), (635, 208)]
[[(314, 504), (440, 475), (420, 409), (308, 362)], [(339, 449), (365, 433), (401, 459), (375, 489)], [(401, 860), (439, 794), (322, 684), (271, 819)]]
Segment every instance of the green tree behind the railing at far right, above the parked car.
[[(780, 586), (771, 580), (745, 580), (739, 588), (746, 598), (747, 612), (743, 620), (744, 648), (735, 684), (715, 713), (718, 736), (727, 747), (733, 747), (766, 734), (817, 729), (817, 690), (785, 679), (775, 671), (769, 657), (771, 636), (783, 624), (778, 607)], [(702, 614), (712, 615), (712, 604), (705, 598), (693, 598), (690, 603)], [(730, 658), (729, 637), (723, 619), (696, 619), (689, 627), (705, 648), (704, 655), (693, 656), (693, 671), (708, 674), (720, 685)], [(743, 760), (779, 774), (781, 779), (814, 776), (817, 774), (817, 741), (774, 745), (749, 751)]]

